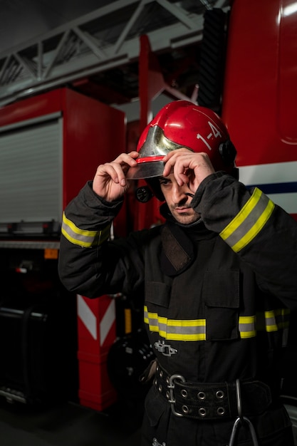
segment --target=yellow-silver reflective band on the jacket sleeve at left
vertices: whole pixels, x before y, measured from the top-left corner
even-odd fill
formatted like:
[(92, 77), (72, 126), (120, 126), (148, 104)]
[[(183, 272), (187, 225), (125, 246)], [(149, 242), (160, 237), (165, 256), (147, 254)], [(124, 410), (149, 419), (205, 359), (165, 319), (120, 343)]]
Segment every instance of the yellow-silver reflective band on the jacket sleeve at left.
[(102, 244), (110, 237), (110, 226), (111, 224), (108, 224), (102, 231), (79, 229), (64, 213), (61, 232), (69, 242), (78, 244), (80, 247), (90, 248)]

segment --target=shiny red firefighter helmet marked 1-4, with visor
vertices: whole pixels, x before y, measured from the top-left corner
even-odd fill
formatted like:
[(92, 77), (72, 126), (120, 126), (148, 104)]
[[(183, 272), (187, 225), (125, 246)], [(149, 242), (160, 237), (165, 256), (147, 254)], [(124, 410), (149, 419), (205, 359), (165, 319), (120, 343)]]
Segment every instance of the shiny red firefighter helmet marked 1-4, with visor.
[(130, 168), (127, 177), (138, 180), (162, 175), (163, 157), (181, 147), (206, 152), (214, 170), (230, 174), (234, 170), (236, 150), (221, 118), (209, 108), (175, 100), (165, 105), (142, 132), (137, 166)]

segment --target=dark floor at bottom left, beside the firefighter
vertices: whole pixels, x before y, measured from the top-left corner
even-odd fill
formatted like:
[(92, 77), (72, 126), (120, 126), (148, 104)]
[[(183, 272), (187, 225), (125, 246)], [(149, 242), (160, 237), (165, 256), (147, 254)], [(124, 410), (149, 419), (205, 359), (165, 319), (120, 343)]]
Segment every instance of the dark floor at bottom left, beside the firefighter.
[(139, 446), (142, 407), (98, 412), (76, 403), (33, 408), (0, 400), (1, 446)]

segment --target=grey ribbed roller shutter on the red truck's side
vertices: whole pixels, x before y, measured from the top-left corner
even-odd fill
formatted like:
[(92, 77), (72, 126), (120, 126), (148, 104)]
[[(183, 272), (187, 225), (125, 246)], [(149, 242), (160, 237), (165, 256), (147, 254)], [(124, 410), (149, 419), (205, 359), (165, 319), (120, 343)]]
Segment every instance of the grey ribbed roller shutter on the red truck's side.
[(60, 222), (60, 113), (0, 128), (0, 223)]

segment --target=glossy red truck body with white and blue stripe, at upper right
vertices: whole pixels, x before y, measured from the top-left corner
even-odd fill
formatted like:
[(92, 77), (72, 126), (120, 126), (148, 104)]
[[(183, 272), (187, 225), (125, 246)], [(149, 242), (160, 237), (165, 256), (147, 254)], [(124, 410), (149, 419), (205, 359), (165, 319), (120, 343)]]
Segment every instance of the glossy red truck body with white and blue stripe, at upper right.
[(222, 93), (240, 180), (259, 185), (295, 218), (296, 24), (296, 1), (234, 1)]

